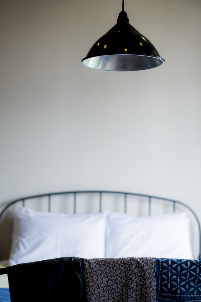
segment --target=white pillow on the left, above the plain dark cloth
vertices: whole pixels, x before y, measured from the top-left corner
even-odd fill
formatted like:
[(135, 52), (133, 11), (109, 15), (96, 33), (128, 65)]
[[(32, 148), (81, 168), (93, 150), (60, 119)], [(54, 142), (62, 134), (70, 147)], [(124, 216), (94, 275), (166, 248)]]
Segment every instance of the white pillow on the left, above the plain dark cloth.
[(104, 213), (62, 214), (20, 208), (14, 218), (10, 265), (57, 257), (102, 258)]

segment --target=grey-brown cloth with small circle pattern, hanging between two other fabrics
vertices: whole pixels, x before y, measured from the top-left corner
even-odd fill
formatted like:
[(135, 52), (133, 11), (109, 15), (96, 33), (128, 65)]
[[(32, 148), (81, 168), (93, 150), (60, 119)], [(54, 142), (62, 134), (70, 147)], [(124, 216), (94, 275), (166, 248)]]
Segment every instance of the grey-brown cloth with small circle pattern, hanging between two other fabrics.
[(88, 302), (155, 302), (153, 258), (85, 259)]

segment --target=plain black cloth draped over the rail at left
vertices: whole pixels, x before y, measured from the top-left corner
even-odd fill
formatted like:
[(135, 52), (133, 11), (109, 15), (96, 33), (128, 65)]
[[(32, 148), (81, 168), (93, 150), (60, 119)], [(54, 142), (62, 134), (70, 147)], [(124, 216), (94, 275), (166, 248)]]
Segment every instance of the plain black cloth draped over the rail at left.
[(7, 267), (11, 302), (86, 302), (84, 259), (62, 257)]

